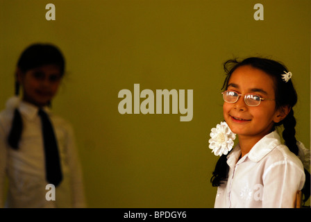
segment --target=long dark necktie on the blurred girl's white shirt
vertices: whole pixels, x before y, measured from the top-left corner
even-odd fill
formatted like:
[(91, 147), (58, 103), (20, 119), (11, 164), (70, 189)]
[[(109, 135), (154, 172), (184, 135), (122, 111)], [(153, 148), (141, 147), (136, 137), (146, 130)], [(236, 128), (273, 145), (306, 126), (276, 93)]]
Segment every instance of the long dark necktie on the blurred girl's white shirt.
[(62, 181), (58, 146), (51, 121), (49, 120), (47, 113), (45, 113), (43, 110), (39, 110), (38, 114), (41, 117), (42, 123), (47, 181), (56, 187)]

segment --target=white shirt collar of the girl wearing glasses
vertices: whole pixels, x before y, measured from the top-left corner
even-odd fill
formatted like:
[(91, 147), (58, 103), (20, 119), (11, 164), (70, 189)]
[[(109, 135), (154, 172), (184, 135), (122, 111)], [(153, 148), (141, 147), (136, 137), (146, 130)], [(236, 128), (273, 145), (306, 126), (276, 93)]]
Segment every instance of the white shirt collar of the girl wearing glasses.
[(227, 157), (227, 164), (229, 167), (234, 167), (237, 163), (237, 160), (244, 161), (246, 157), (249, 157), (249, 159), (253, 162), (259, 162), (262, 160), (262, 158), (270, 153), (276, 146), (280, 145), (280, 136), (274, 130), (272, 133), (269, 133), (262, 137), (260, 141), (258, 141), (253, 148), (251, 148), (251, 151), (244, 155), (241, 160), (239, 160), (239, 156), (241, 155), (241, 148), (239, 147), (239, 144), (233, 148), (233, 151), (230, 152), (230, 154)]

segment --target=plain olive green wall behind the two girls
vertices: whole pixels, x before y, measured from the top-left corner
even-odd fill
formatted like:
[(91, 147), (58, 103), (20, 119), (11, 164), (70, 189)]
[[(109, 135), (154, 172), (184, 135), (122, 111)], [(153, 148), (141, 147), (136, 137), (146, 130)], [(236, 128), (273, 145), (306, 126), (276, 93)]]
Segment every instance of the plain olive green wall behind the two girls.
[[(47, 3), (56, 20), (47, 21)], [(264, 20), (255, 21), (255, 3)], [(310, 0), (0, 0), (0, 108), (22, 50), (52, 42), (67, 59), (53, 110), (72, 122), (89, 207), (213, 207), (222, 63), (264, 56), (293, 73), (297, 138), (310, 147)], [(193, 119), (119, 114), (121, 89), (193, 89)], [(142, 101), (143, 99), (141, 99)]]

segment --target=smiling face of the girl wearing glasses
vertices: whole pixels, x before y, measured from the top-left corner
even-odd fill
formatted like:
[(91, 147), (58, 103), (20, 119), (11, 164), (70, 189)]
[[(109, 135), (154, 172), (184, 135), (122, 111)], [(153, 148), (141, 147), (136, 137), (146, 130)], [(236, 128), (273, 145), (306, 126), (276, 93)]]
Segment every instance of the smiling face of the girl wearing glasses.
[[(238, 94), (258, 94), (263, 99), (275, 99), (274, 80), (260, 69), (249, 65), (238, 67), (231, 74), (228, 90)], [(276, 110), (276, 101), (263, 100), (258, 106), (249, 106), (244, 102), (244, 96), (239, 96), (236, 103), (224, 102), (224, 119), (228, 126), (239, 136), (239, 139), (256, 137), (258, 141), (271, 132), (274, 122), (283, 119)]]

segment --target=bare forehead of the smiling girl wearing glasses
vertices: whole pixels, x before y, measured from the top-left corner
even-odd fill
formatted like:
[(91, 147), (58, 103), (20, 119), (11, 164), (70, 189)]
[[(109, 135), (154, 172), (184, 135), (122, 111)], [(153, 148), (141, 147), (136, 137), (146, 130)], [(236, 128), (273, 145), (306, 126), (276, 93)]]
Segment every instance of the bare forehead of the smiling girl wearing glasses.
[(249, 65), (238, 67), (233, 71), (228, 80), (228, 87), (234, 85), (238, 89), (251, 91), (251, 89), (262, 89), (268, 94), (274, 93), (274, 78), (266, 72)]

